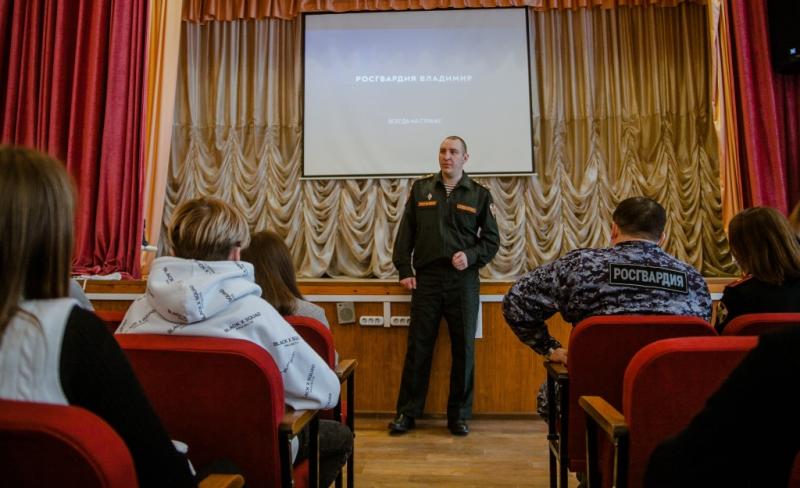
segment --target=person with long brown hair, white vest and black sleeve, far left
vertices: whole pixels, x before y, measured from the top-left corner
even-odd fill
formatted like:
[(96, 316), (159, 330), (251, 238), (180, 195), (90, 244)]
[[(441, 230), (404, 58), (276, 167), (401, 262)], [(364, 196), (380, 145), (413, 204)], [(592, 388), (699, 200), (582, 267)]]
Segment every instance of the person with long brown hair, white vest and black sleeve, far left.
[(74, 212), (61, 163), (0, 147), (0, 398), (83, 407), (125, 441), (141, 486), (196, 486), (117, 341), (67, 297)]

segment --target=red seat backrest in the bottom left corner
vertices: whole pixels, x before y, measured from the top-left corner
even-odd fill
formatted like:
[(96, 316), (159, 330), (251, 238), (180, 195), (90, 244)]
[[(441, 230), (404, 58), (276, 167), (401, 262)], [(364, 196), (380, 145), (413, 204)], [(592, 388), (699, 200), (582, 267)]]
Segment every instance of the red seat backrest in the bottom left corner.
[(80, 407), (0, 400), (3, 486), (136, 488), (122, 438)]

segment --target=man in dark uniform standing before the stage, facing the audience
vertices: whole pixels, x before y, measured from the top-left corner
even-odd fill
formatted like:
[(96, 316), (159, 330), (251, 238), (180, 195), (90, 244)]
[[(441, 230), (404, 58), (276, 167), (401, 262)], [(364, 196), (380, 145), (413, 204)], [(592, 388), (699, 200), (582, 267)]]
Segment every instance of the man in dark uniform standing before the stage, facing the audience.
[[(457, 136), (439, 147), (441, 171), (414, 182), (395, 240), (392, 261), (411, 290), (408, 331), (397, 417), (392, 433), (414, 428), (428, 393), (439, 322), (447, 321), (452, 364), (447, 427), (467, 435), (472, 416), (478, 269), (497, 253), (499, 236), (489, 191), (464, 173), (467, 145)], [(412, 268), (413, 255), (413, 268)]]

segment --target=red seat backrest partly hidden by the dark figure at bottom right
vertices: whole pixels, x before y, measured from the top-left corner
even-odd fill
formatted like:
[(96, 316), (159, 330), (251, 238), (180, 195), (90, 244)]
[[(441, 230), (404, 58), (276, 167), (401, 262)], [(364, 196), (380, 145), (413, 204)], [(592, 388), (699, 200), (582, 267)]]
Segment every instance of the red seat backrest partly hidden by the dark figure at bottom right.
[[(629, 487), (642, 486), (656, 446), (689, 424), (757, 343), (757, 337), (667, 339), (636, 353), (625, 371), (622, 398)], [(603, 479), (609, 477), (604, 473)]]

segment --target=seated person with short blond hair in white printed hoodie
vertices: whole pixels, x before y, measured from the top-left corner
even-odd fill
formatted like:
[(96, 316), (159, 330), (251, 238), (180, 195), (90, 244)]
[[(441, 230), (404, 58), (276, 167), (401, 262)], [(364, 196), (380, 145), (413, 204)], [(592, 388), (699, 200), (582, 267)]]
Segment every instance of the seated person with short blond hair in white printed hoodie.
[[(247, 340), (275, 360), (289, 406), (295, 410), (336, 406), (336, 373), (261, 299), (253, 265), (239, 261), (241, 248), (250, 240), (244, 216), (221, 200), (190, 200), (175, 209), (166, 239), (174, 256), (153, 261), (147, 293), (133, 302), (117, 334)], [(328, 486), (347, 461), (353, 438), (346, 426), (322, 420), (319, 441), (320, 484)]]

